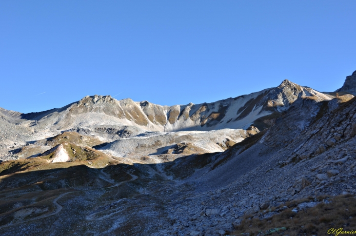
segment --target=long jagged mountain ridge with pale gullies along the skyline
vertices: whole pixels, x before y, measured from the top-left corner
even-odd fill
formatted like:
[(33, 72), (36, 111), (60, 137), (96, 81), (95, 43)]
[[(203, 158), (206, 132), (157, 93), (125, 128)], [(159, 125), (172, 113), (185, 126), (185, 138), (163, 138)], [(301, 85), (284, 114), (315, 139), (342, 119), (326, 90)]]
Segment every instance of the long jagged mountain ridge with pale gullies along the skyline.
[[(263, 124), (263, 120), (267, 120), (263, 119), (259, 124), (255, 122), (258, 118), (277, 115), (303, 96), (319, 100), (334, 98), (285, 79), (275, 88), (200, 104), (161, 106), (148, 101), (135, 102), (131, 98), (117, 100), (110, 95), (86, 96), (59, 109), (21, 114), (17, 123), (34, 130), (49, 131), (93, 127), (102, 125), (103, 121), (108, 125), (131, 125), (163, 132), (247, 129), (251, 125), (261, 129), (268, 127), (271, 121)], [(88, 116), (91, 120), (87, 119)]]

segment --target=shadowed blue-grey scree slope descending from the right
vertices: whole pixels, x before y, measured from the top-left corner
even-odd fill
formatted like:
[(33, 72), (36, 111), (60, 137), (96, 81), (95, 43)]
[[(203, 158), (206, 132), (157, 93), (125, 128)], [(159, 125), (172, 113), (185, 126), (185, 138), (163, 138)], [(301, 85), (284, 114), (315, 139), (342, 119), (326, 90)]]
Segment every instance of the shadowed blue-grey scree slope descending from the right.
[[(301, 98), (257, 140), (212, 157), (189, 178), (190, 194), (171, 203), (175, 223), (157, 235), (224, 235), (239, 228), (242, 216), (262, 222), (279, 212), (268, 209), (292, 200), (356, 194), (356, 100), (332, 112), (327, 105)], [(305, 113), (296, 117), (296, 111), (308, 110), (301, 125)]]

